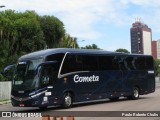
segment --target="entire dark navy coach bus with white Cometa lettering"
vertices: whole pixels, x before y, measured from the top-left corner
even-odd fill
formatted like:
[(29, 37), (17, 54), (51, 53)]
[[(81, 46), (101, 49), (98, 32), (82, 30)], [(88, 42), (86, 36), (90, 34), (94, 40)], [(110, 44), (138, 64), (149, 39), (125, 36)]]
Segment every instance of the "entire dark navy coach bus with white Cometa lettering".
[(62, 105), (119, 97), (138, 99), (155, 91), (150, 55), (84, 49), (46, 49), (19, 58), (11, 103), (19, 107)]

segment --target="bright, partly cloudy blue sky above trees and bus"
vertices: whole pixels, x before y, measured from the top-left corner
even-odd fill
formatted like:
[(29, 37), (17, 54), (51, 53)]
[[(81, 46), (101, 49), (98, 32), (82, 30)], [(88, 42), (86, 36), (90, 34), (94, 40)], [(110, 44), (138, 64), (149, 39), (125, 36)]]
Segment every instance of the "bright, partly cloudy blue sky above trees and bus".
[(137, 18), (152, 29), (153, 40), (160, 39), (160, 0), (0, 0), (0, 5), (6, 6), (1, 11), (58, 17), (81, 47), (94, 43), (104, 50), (130, 51), (130, 28)]

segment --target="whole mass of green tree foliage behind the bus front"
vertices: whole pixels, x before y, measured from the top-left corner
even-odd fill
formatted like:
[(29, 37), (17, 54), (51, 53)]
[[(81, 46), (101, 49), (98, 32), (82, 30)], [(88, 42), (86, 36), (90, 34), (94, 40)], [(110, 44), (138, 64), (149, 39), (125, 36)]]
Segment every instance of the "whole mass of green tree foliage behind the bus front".
[[(35, 11), (0, 12), (0, 71), (8, 64), (16, 63), (24, 54), (53, 47), (78, 46), (76, 40), (67, 40), (64, 24), (54, 16), (40, 16)], [(65, 41), (67, 46), (63, 45)], [(2, 78), (2, 76), (0, 77)]]

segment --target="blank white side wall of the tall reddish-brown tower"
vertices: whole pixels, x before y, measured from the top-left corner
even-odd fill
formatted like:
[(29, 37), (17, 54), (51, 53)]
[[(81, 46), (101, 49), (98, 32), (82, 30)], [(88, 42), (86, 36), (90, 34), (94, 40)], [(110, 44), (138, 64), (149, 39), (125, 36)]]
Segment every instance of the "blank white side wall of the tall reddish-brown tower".
[(151, 32), (143, 31), (143, 53), (145, 55), (152, 55)]

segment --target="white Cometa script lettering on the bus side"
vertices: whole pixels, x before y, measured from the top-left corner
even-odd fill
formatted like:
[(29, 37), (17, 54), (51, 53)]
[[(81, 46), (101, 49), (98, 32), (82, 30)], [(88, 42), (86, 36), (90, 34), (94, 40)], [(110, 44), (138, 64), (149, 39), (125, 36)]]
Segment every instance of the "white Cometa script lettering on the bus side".
[(75, 75), (74, 76), (74, 82), (75, 83), (78, 83), (78, 82), (98, 82), (99, 81), (99, 76), (89, 76), (89, 77), (86, 77), (86, 76), (83, 76), (83, 77), (80, 77), (79, 75)]

